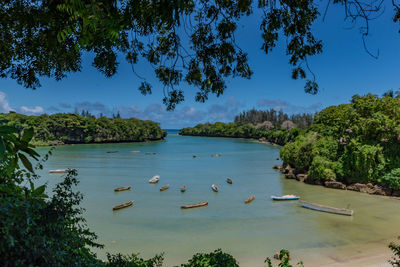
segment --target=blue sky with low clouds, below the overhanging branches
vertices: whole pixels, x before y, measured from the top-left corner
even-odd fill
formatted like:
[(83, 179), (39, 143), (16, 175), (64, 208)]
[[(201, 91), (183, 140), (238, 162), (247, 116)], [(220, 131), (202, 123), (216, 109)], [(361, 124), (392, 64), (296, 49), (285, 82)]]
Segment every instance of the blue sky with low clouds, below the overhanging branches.
[(42, 78), (42, 87), (37, 90), (26, 89), (11, 79), (0, 79), (0, 112), (13, 110), (27, 115), (75, 109), (89, 110), (95, 115), (119, 112), (124, 118), (159, 122), (166, 129), (229, 122), (251, 108), (317, 112), (330, 105), (348, 103), (354, 94), (381, 95), (400, 88), (400, 25), (392, 21), (393, 14), (388, 5), (382, 16), (370, 22), (367, 46), (372, 53), (379, 54), (378, 59), (364, 50), (360, 24), (352, 27), (344, 20), (343, 8), (331, 5), (325, 20), (318, 18), (313, 31), (323, 41), (323, 53), (309, 59), (321, 89), (317, 95), (304, 92), (304, 80), (291, 79), (285, 39), (268, 55), (261, 50), (260, 18), (256, 12), (241, 21), (236, 35), (239, 46), (248, 53), (252, 78), (227, 80), (224, 94), (218, 98), (210, 95), (206, 103), (195, 102), (196, 88), (183, 84), (185, 101), (175, 111), (166, 111), (162, 85), (149, 66), (136, 66), (153, 85), (153, 94), (143, 96), (137, 89), (141, 81), (129, 64), (122, 60), (118, 73), (106, 78), (91, 66), (92, 55), (86, 54), (82, 72), (71, 73), (62, 81)]

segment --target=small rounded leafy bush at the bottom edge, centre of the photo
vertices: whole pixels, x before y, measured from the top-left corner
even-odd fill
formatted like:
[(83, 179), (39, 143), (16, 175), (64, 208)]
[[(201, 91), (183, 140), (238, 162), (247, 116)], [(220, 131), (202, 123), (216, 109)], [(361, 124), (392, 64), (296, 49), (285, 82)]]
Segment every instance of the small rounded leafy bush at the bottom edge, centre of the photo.
[(239, 267), (231, 255), (217, 249), (210, 253), (197, 253), (182, 267)]

